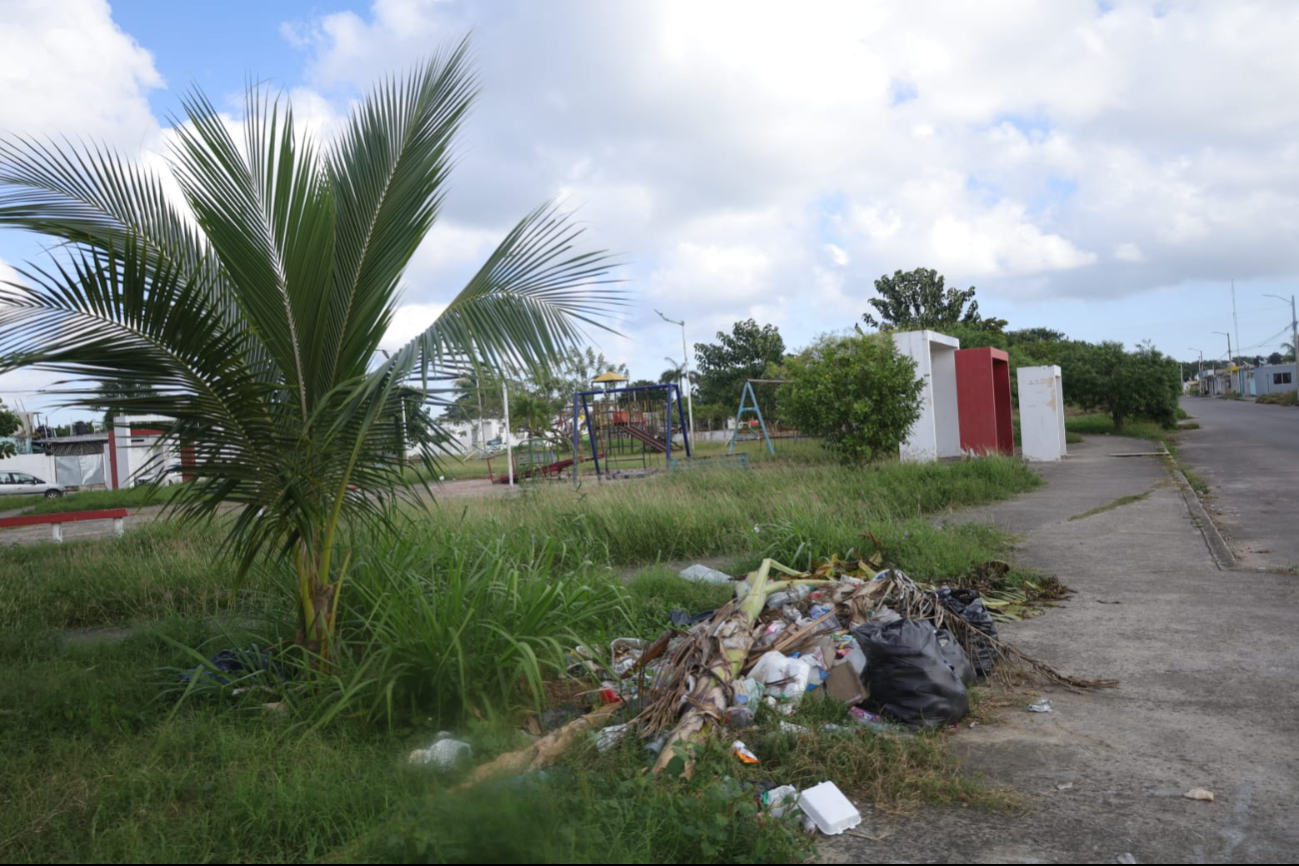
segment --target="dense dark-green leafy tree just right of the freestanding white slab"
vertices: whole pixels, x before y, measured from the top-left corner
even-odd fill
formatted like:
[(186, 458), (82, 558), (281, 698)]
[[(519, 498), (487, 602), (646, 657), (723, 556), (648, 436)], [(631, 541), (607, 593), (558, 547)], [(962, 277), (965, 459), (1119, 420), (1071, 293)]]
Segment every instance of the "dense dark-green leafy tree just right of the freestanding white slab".
[(1115, 341), (1073, 343), (1060, 371), (1065, 400), (1105, 412), (1115, 430), (1142, 417), (1169, 430), (1177, 426), (1181, 367), (1150, 343), (1131, 352)]

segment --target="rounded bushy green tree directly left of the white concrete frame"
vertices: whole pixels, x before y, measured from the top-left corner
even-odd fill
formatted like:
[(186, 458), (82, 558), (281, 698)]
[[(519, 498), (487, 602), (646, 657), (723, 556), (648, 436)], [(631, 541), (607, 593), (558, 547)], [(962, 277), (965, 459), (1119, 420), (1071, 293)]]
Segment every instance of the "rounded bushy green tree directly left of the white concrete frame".
[(887, 335), (822, 338), (783, 371), (781, 412), (844, 464), (896, 454), (920, 417), (924, 383)]

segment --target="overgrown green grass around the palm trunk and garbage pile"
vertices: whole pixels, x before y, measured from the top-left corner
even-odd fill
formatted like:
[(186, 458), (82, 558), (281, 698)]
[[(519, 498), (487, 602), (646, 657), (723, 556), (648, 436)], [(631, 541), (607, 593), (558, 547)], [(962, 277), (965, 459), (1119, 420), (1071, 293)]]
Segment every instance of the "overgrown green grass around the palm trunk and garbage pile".
[[(887, 808), (1005, 805), (957, 773), (944, 735), (838, 740), (816, 722), (842, 708), (812, 704), (795, 719), (813, 728), (804, 741), (760, 717), (744, 737), (763, 765), (743, 767), (714, 743), (691, 782), (644, 774), (650, 756), (630, 739), (609, 753), (581, 743), (544, 778), (455, 796), (446, 788), (464, 771), (439, 776), (405, 756), (443, 726), (475, 762), (517, 748), (518, 714), (564, 649), (653, 637), (673, 608), (729, 596), (655, 562), (803, 565), (869, 549), (869, 531), (917, 579), (956, 579), (1012, 539), (929, 517), (1037, 483), (1004, 458), (848, 470), (811, 452), (750, 473), (447, 501), (412, 512), (396, 543), (353, 541), (343, 658), (318, 686), (274, 696), (177, 680), (226, 647), (281, 644), (286, 665), (300, 658), (277, 592), (284, 571), (261, 569), (231, 596), (216, 527), (0, 549), (5, 860), (801, 862), (805, 837), (757, 822), (751, 791), (724, 776), (830, 778)], [(626, 582), (614, 567), (644, 563)], [(104, 626), (132, 628), (90, 641), (58, 631)], [(286, 711), (262, 706), (273, 697)]]

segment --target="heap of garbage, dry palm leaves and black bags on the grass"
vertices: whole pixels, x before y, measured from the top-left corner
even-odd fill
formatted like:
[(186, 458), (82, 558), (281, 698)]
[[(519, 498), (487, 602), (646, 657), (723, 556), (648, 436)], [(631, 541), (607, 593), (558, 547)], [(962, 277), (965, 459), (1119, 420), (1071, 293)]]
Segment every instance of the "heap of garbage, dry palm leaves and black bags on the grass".
[(674, 627), (657, 640), (611, 648), (617, 679), (603, 686), (630, 708), (624, 732), (655, 741), (656, 771), (681, 743), (718, 726), (743, 728), (763, 704), (791, 714), (813, 693), (853, 708), (876, 730), (920, 730), (963, 719), (977, 678), (1116, 684), (1068, 676), (1002, 641), (974, 589), (925, 587), (863, 561), (801, 573), (766, 560), (733, 583), (722, 608), (674, 612)]

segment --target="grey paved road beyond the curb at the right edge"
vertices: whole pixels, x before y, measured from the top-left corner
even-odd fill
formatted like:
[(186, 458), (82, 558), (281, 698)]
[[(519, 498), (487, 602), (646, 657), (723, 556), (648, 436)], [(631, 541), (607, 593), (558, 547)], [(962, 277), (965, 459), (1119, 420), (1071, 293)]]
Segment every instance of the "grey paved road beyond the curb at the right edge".
[(1205, 501), (1244, 569), (1299, 566), (1299, 409), (1183, 397), (1200, 428), (1181, 435), (1182, 458), (1209, 483)]

